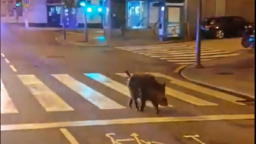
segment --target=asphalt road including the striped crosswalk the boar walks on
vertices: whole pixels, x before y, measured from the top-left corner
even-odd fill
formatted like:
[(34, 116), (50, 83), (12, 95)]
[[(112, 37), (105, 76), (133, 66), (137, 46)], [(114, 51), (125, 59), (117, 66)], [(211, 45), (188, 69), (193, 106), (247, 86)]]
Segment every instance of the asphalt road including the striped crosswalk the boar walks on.
[[(1, 144), (254, 144), (246, 98), (188, 82), (179, 64), (58, 34), (1, 25)], [(127, 108), (125, 70), (155, 72), (171, 106)]]

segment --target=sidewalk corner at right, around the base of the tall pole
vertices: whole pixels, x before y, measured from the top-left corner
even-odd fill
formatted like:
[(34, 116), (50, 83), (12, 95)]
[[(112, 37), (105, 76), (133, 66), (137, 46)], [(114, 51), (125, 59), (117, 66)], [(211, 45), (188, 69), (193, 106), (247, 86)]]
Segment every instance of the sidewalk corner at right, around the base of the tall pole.
[(194, 69), (194, 65), (190, 65), (181, 71), (181, 75), (193, 82), (255, 98), (254, 50), (202, 62), (202, 65), (205, 68)]

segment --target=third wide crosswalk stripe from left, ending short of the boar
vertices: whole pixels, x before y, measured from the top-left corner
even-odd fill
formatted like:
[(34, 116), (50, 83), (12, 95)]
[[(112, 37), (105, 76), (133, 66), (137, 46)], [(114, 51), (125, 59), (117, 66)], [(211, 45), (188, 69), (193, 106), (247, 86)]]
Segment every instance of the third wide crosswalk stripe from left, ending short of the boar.
[(86, 84), (75, 80), (68, 74), (52, 74), (52, 76), (100, 109), (110, 110), (126, 108), (103, 94), (93, 90)]

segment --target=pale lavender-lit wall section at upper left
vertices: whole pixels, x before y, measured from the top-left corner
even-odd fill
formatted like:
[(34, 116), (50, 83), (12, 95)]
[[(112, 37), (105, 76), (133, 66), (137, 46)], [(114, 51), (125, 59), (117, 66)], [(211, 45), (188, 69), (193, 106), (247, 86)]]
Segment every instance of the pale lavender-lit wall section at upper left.
[(30, 0), (28, 7), (28, 22), (37, 24), (47, 23), (46, 0)]

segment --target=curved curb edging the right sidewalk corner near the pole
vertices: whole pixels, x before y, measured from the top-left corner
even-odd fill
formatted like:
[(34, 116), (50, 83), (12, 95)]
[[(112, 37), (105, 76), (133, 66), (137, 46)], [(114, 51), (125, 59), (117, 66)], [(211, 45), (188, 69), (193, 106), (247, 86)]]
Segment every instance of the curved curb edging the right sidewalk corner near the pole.
[[(190, 65), (188, 65), (190, 66)], [(186, 66), (186, 67), (188, 67)], [(255, 99), (253, 96), (250, 96), (248, 94), (244, 94), (242, 92), (235, 92), (234, 90), (230, 90), (228, 88), (220, 88), (218, 86), (213, 86), (211, 84), (206, 84), (204, 82), (200, 82), (198, 80), (193, 80), (191, 78), (188, 78), (187, 76), (185, 76), (184, 74), (182, 74), (182, 70), (184, 70), (186, 67), (182, 68), (179, 73), (180, 73), (180, 76), (182, 76), (183, 78), (185, 78), (186, 80), (189, 80), (190, 82), (194, 82), (194, 83), (197, 83), (197, 84), (201, 84), (202, 86), (207, 86), (207, 87), (211, 87), (211, 88), (215, 88), (217, 90), (221, 90), (221, 91), (226, 91), (226, 92), (230, 92), (230, 93), (234, 93), (234, 94), (238, 94), (238, 95), (241, 95), (241, 96), (245, 96), (245, 97), (248, 97), (248, 98), (252, 98), (252, 99)]]

